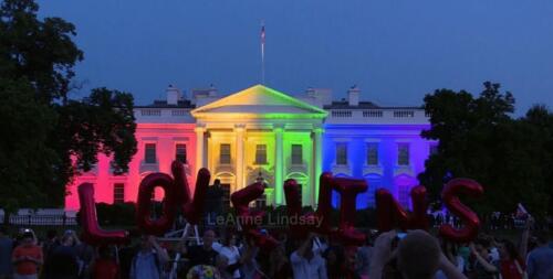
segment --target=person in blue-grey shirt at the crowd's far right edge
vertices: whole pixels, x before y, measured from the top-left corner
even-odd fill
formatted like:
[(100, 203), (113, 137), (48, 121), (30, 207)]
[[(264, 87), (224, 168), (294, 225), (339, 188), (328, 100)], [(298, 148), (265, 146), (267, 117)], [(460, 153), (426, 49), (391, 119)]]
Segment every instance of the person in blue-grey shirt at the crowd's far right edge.
[(545, 279), (553, 275), (553, 249), (549, 247), (549, 234), (535, 233), (538, 246), (528, 254), (526, 270), (529, 279)]

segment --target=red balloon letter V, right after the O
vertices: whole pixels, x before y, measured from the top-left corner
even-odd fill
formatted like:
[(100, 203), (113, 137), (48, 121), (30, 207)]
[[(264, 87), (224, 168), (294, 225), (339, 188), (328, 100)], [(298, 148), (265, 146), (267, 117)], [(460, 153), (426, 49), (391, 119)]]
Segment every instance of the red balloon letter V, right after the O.
[(206, 192), (209, 186), (211, 174), (206, 168), (198, 171), (194, 200), (190, 200), (190, 187), (188, 186), (188, 180), (186, 179), (185, 167), (181, 163), (174, 161), (171, 164), (171, 172), (175, 178), (177, 202), (181, 205), (182, 215), (188, 223), (198, 225), (204, 216)]

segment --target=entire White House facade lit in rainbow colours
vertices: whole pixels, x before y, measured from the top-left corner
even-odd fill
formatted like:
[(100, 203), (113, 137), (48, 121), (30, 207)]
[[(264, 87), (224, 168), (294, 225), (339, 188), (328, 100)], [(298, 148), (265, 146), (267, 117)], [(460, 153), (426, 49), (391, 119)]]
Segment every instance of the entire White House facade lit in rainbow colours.
[[(429, 128), (424, 109), (379, 107), (359, 101), (359, 89), (347, 98), (332, 100), (328, 89), (309, 88), (292, 97), (255, 85), (219, 97), (215, 88), (192, 89), (185, 98), (176, 87), (167, 99), (136, 106), (138, 151), (129, 172), (114, 175), (111, 159), (98, 154), (98, 163), (67, 185), (65, 207), (79, 208), (76, 186), (90, 182), (96, 202), (134, 202), (143, 178), (152, 172), (170, 173), (173, 160), (186, 165), (190, 185), (200, 168), (219, 179), (228, 196), (257, 180), (268, 189), (261, 203), (285, 204), (283, 182), (301, 185), (302, 203), (316, 205), (319, 175), (363, 178), (369, 191), (357, 198), (358, 207), (374, 206), (374, 191), (385, 187), (405, 206), (409, 190), (436, 142), (420, 137)], [(155, 198), (163, 191), (156, 189)], [(333, 201), (338, 203), (337, 195)]]

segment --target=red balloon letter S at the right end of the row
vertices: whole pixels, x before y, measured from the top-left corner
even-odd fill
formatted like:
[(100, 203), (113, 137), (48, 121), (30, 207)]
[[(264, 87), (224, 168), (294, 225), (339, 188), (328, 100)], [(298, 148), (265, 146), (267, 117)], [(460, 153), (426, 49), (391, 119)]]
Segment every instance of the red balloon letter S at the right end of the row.
[(441, 200), (449, 211), (462, 219), (465, 227), (456, 229), (449, 224), (441, 225), (439, 234), (442, 237), (457, 243), (468, 243), (477, 237), (480, 219), (473, 211), (461, 203), (459, 194), (480, 196), (482, 193), (483, 187), (469, 179), (453, 179), (446, 184), (441, 192)]

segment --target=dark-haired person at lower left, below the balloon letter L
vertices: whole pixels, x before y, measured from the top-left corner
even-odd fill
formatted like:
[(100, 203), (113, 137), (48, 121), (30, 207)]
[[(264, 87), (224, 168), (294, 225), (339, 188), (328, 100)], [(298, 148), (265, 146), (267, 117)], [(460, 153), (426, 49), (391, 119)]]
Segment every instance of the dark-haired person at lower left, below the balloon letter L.
[(79, 242), (75, 233), (67, 230), (61, 243), (53, 248), (44, 265), (44, 279), (79, 278), (79, 258), (75, 245)]

